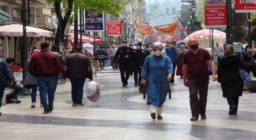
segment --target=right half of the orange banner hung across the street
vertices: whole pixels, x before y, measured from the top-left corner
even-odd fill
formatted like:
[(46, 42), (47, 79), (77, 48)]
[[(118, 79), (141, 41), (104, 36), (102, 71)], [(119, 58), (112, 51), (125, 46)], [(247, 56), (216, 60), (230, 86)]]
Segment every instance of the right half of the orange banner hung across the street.
[(171, 24), (165, 24), (165, 25), (160, 25), (160, 26), (154, 26), (156, 30), (162, 35), (164, 35), (167, 38), (172, 38), (174, 35), (174, 32), (177, 28), (178, 22), (171, 23)]

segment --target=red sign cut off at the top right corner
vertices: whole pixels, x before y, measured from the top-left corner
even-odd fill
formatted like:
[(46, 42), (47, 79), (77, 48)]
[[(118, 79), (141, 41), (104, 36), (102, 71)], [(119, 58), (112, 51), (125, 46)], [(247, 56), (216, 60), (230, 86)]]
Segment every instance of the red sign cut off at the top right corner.
[(236, 13), (256, 12), (256, 1), (254, 0), (236, 0)]

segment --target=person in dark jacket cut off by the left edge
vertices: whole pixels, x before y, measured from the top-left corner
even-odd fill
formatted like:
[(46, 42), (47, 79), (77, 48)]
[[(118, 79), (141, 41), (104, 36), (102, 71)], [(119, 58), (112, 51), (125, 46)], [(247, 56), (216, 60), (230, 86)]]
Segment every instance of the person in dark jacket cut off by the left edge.
[[(9, 83), (10, 86), (13, 84), (12, 72), (6, 60), (0, 58), (0, 108), (1, 108), (2, 98), (4, 96), (5, 82)], [(0, 112), (0, 115), (1, 114), (2, 113)]]

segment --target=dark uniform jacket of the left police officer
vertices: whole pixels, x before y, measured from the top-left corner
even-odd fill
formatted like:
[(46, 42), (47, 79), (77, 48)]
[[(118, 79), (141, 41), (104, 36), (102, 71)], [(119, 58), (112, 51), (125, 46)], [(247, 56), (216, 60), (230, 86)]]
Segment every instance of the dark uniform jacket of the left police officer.
[[(129, 57), (125, 58), (126, 55), (128, 55)], [(120, 47), (116, 51), (116, 55), (115, 55), (113, 63), (116, 63), (116, 60), (119, 56), (119, 60), (118, 60), (119, 64), (130, 64), (130, 58), (132, 58), (132, 55), (133, 54), (132, 54), (132, 49), (131, 48)]]

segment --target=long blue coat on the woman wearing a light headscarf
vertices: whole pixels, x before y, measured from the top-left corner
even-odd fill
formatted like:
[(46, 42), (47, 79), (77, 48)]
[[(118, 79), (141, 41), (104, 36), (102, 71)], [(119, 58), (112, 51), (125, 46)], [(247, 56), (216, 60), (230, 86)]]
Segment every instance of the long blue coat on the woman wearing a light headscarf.
[[(150, 59), (149, 67), (148, 60)], [(148, 68), (148, 70), (147, 70)], [(174, 73), (171, 59), (168, 56), (147, 56), (141, 73), (146, 80), (147, 104), (161, 106), (164, 104), (168, 92), (168, 74)]]

